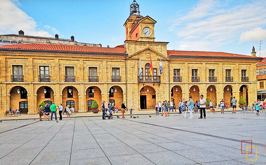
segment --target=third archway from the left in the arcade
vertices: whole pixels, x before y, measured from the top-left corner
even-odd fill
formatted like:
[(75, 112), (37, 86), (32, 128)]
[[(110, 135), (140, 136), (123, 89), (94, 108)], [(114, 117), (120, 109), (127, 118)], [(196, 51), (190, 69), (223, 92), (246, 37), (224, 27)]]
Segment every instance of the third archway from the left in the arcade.
[(66, 86), (62, 91), (62, 105), (73, 106), (77, 111), (79, 110), (79, 96), (78, 90), (74, 86)]

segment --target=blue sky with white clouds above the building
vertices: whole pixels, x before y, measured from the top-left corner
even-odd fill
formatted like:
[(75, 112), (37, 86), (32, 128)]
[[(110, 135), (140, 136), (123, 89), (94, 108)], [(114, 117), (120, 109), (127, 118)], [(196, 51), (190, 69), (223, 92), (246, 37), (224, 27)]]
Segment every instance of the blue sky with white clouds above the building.
[[(0, 0), (0, 34), (37, 35), (101, 43), (125, 40), (131, 1)], [(250, 55), (255, 46), (266, 57), (266, 1), (137, 0), (142, 16), (157, 21), (155, 41), (168, 50), (199, 50)]]

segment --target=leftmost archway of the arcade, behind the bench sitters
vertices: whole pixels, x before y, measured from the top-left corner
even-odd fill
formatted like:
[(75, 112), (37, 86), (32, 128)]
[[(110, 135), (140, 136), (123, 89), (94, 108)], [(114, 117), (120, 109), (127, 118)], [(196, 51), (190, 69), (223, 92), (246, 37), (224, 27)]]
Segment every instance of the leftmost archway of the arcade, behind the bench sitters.
[(15, 86), (10, 91), (10, 105), (14, 111), (19, 108), (21, 113), (28, 113), (28, 92), (22, 86)]

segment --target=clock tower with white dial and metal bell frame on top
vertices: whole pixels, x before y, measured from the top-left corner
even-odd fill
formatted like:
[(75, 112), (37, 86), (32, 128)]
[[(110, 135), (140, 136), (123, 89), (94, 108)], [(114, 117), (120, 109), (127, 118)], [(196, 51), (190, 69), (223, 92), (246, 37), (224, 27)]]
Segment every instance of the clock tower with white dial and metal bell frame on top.
[(150, 16), (141, 16), (139, 4), (134, 0), (130, 5), (130, 14), (124, 23), (126, 40), (154, 42), (154, 24)]

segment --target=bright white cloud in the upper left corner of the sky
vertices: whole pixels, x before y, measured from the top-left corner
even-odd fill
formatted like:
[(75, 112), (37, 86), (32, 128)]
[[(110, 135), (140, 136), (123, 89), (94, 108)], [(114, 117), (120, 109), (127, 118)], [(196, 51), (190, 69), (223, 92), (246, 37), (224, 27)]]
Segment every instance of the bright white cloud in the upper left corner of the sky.
[(18, 34), (23, 30), (25, 35), (53, 37), (49, 32), (37, 29), (35, 20), (19, 9), (18, 0), (1, 0), (0, 34)]

